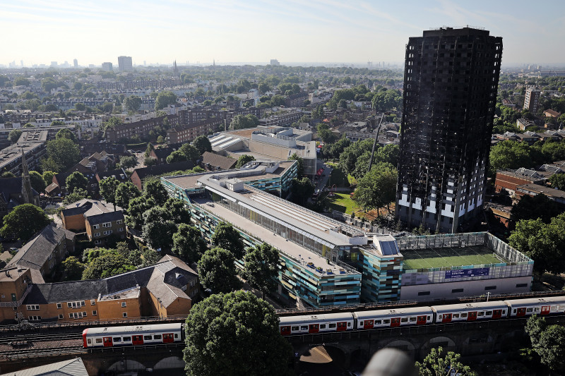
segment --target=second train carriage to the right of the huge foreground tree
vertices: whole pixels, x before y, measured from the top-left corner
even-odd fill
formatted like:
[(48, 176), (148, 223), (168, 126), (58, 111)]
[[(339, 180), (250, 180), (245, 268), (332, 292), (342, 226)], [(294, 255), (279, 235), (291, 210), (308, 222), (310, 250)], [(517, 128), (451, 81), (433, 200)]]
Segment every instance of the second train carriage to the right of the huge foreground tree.
[(429, 307), (368, 310), (355, 312), (353, 316), (357, 329), (426, 325), (434, 320), (434, 313)]

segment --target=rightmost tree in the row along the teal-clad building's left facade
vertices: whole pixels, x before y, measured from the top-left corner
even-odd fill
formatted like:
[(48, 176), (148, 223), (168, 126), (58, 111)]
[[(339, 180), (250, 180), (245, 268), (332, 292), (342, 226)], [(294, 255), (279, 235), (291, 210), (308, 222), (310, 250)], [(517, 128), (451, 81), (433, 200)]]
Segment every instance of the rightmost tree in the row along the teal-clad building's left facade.
[(249, 248), (244, 258), (244, 278), (247, 282), (265, 293), (276, 289), (278, 283), (278, 250), (268, 243)]

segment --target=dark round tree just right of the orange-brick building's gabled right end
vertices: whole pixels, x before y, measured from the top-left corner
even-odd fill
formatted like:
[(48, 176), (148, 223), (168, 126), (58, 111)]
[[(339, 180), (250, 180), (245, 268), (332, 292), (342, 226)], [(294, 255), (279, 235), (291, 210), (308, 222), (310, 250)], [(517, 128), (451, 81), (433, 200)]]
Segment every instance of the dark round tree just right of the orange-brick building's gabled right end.
[(234, 255), (224, 248), (215, 247), (202, 255), (198, 261), (198, 278), (206, 289), (213, 293), (229, 293), (239, 289)]

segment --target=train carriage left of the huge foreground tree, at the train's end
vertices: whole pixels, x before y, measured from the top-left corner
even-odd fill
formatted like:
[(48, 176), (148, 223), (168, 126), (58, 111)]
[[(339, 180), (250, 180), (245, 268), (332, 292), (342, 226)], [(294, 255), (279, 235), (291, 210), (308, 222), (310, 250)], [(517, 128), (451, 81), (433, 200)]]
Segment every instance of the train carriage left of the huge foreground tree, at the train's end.
[(168, 344), (182, 341), (182, 324), (97, 327), (83, 331), (83, 346), (113, 347)]

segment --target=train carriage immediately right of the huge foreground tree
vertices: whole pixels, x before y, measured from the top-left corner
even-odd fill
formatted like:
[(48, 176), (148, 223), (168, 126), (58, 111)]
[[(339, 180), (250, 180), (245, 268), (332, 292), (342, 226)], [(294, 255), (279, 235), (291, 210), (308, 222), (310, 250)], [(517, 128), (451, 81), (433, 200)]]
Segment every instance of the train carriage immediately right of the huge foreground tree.
[(316, 334), (344, 332), (353, 329), (351, 313), (326, 313), (322, 315), (300, 315), (280, 317), (280, 334)]

